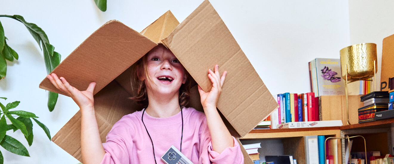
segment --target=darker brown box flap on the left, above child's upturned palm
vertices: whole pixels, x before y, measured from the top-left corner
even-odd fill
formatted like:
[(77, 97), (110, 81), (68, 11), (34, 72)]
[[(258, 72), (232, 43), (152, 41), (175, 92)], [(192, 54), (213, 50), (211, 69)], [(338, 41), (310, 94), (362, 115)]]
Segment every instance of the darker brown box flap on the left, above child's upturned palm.
[[(91, 34), (52, 73), (64, 77), (79, 90), (96, 82), (93, 92), (96, 94), (156, 45), (125, 24), (111, 20)], [(48, 78), (39, 88), (65, 95)]]

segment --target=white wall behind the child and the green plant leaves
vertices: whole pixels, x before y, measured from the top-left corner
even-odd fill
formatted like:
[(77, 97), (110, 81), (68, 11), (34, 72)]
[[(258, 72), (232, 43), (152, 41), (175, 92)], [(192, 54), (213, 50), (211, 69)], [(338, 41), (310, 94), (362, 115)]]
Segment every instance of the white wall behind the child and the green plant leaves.
[[(3, 1), (0, 14), (22, 15), (41, 27), (62, 55), (62, 60), (106, 21), (117, 19), (141, 31), (165, 11), (184, 20), (202, 0), (108, 1), (101, 12), (93, 0)], [(310, 91), (308, 62), (314, 58), (339, 58), (339, 50), (350, 45), (348, 1), (229, 1), (211, 0), (235, 39), (273, 95)], [(38, 85), (45, 78), (43, 55), (37, 43), (16, 20), (0, 18), (7, 43), (20, 59), (8, 62), (7, 77), (0, 80), (1, 103), (21, 101), (16, 110), (39, 116), (54, 136), (77, 112), (69, 97), (60, 95), (53, 112), (46, 107), (47, 92)], [(6, 164), (78, 163), (71, 155), (46, 138), (35, 123), (34, 141), (22, 157), (0, 148)], [(25, 146), (22, 133), (7, 132)], [(79, 136), (76, 136), (79, 137)]]

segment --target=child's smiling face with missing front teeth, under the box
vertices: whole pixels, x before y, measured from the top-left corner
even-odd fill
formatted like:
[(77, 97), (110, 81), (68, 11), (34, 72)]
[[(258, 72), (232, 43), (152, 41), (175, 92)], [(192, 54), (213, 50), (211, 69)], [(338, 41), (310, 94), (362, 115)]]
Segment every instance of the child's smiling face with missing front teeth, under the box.
[(150, 79), (144, 79), (148, 93), (175, 94), (186, 82), (185, 69), (175, 55), (163, 45), (154, 47), (147, 56)]

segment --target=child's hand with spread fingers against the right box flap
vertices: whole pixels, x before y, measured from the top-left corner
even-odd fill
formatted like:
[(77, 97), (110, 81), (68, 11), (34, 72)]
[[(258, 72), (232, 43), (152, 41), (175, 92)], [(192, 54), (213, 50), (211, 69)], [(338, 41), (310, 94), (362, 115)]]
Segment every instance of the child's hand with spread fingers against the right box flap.
[(203, 108), (214, 107), (216, 108), (217, 100), (219, 99), (221, 88), (227, 75), (227, 71), (223, 72), (223, 75), (219, 75), (219, 65), (215, 65), (215, 72), (211, 69), (208, 70), (208, 78), (212, 82), (212, 89), (210, 92), (204, 92), (204, 90), (198, 85), (198, 91), (200, 92), (201, 104)]

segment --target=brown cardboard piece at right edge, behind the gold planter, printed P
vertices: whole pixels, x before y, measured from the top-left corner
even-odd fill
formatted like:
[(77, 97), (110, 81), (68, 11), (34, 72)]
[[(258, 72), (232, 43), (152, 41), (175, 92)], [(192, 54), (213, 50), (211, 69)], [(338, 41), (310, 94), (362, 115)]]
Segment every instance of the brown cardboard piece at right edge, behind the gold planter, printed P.
[[(394, 35), (383, 39), (380, 91), (389, 91), (388, 78), (394, 77)], [(383, 88), (383, 89), (382, 89)], [(392, 88), (391, 88), (392, 89)]]

